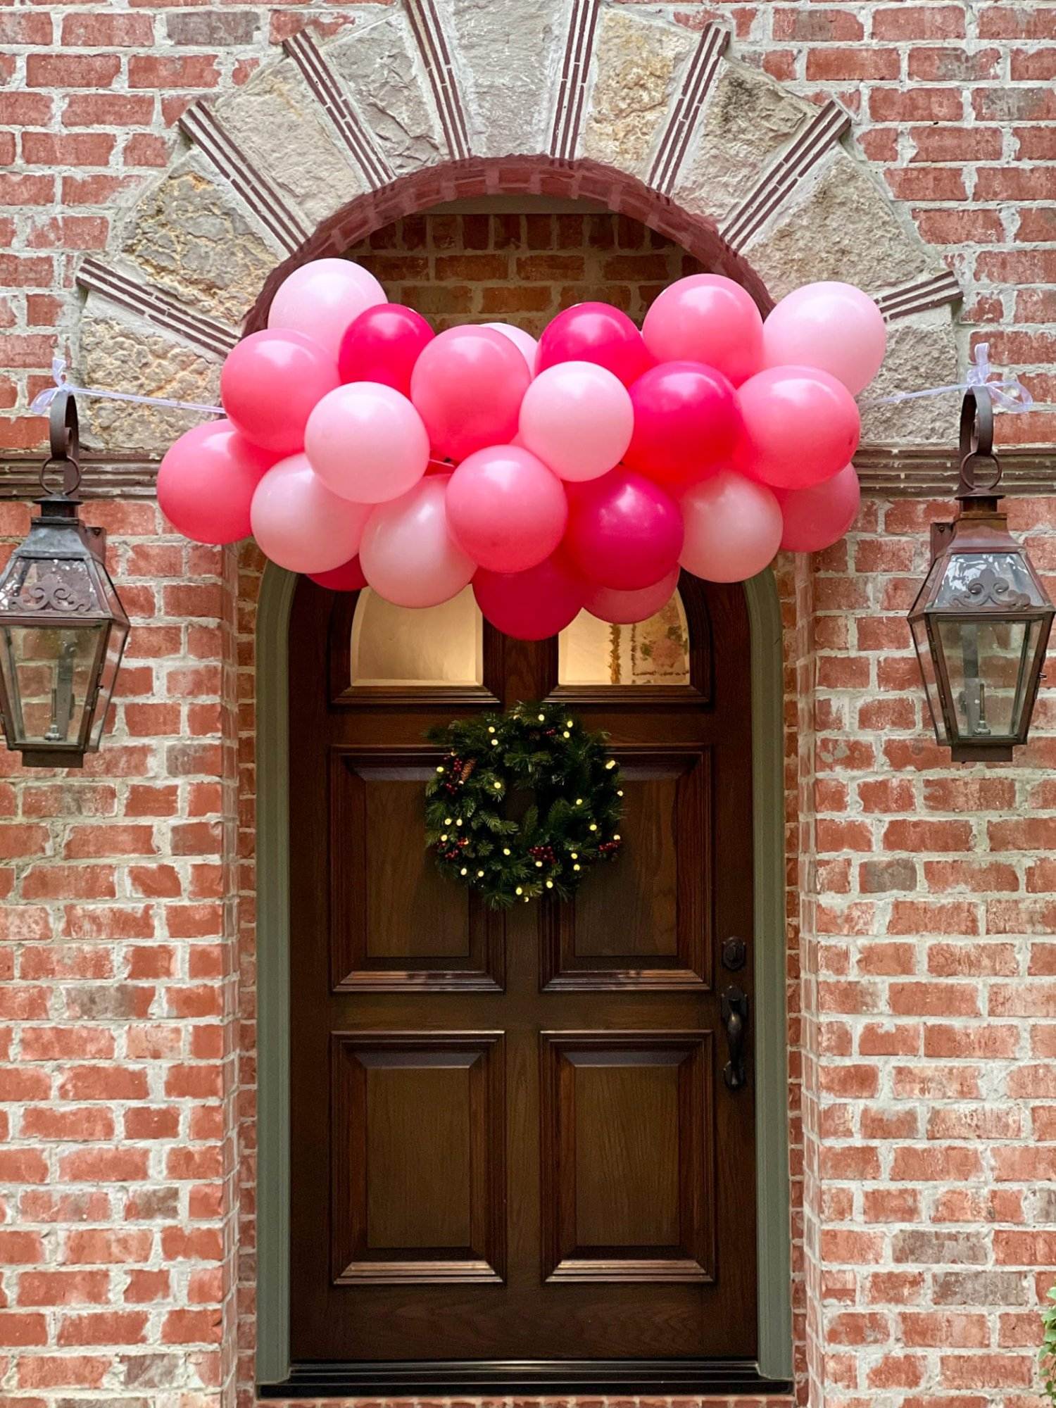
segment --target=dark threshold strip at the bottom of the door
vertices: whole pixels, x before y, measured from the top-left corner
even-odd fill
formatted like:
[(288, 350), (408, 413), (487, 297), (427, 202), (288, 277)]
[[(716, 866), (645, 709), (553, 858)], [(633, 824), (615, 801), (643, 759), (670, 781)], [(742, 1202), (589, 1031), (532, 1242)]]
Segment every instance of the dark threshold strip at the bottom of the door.
[(753, 1359), (307, 1360), (259, 1398), (787, 1394)]

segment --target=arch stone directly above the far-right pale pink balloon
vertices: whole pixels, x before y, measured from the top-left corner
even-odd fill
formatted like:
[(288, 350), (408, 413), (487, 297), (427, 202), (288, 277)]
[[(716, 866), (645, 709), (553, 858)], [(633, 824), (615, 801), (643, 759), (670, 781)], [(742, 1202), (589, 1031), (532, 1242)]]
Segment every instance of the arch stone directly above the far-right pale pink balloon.
[(842, 279), (866, 293), (938, 273), (919, 237), (895, 217), (866, 168), (836, 146), (743, 249), (772, 297)]

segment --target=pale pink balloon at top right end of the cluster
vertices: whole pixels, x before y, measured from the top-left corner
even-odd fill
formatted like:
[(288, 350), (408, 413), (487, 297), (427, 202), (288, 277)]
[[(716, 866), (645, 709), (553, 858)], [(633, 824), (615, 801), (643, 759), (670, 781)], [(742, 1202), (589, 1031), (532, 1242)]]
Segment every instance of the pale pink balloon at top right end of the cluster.
[(763, 324), (763, 366), (814, 366), (857, 396), (884, 360), (887, 327), (876, 303), (850, 283), (808, 283)]

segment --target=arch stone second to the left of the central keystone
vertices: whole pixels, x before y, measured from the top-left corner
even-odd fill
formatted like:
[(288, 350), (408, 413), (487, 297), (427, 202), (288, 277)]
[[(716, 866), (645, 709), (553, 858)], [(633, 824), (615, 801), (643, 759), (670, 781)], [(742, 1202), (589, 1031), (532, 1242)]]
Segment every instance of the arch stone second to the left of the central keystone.
[(293, 59), (266, 63), (217, 104), (217, 117), (253, 166), (318, 225), (366, 186)]

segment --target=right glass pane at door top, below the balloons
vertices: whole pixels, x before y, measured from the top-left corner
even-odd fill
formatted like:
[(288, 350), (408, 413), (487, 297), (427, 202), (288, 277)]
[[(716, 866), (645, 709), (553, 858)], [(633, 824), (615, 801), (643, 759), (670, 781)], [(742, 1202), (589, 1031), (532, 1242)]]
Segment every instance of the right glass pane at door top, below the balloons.
[(610, 625), (580, 611), (558, 636), (558, 683), (689, 684), (690, 634), (679, 593), (635, 625)]

